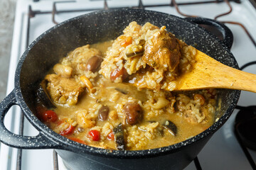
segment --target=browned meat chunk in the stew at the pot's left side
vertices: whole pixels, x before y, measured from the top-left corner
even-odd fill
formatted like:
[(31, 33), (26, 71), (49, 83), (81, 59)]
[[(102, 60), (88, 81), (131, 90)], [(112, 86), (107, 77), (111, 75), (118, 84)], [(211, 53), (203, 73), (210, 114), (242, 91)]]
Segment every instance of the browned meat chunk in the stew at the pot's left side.
[(69, 106), (78, 103), (78, 96), (84, 89), (75, 79), (67, 79), (57, 74), (48, 74), (45, 79), (48, 81), (48, 93), (55, 103)]

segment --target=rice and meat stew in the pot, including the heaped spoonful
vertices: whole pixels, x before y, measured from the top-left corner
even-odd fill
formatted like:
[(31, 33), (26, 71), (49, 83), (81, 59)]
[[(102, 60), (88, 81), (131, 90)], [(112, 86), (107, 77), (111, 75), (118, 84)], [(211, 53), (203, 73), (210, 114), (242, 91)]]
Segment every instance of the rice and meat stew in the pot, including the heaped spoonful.
[(78, 47), (55, 64), (38, 88), (37, 116), (70, 140), (104, 149), (187, 140), (214, 123), (218, 91), (162, 89), (175, 88), (194, 55), (164, 26), (129, 23), (117, 39)]

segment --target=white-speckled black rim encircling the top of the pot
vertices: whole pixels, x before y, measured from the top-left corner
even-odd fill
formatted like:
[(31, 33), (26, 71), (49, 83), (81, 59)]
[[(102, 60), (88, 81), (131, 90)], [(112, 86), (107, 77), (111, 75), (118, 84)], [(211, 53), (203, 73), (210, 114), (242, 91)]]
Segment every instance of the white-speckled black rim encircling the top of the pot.
[[(188, 145), (193, 144), (194, 142), (198, 142), (199, 140), (203, 139), (203, 137), (206, 137), (208, 135), (213, 134), (213, 132), (215, 132), (216, 130), (218, 130), (225, 122), (226, 120), (228, 120), (228, 118), (230, 117), (231, 113), (233, 113), (233, 110), (235, 109), (235, 105), (236, 103), (238, 103), (238, 99), (240, 96), (240, 91), (234, 91), (235, 93), (235, 98), (233, 98), (233, 101), (231, 103), (231, 105), (228, 107), (227, 111), (223, 114), (223, 116), (221, 116), (221, 118), (215, 122), (212, 126), (210, 126), (210, 128), (208, 128), (207, 130), (201, 132), (200, 134), (191, 137), (190, 139), (183, 141), (183, 142), (179, 142), (175, 145), (170, 145), (168, 147), (161, 147), (161, 148), (156, 148), (156, 149), (146, 149), (146, 150), (136, 150), (136, 151), (129, 151), (129, 150), (125, 150), (125, 151), (118, 151), (118, 150), (110, 150), (110, 149), (100, 149), (100, 148), (95, 148), (95, 147), (90, 147), (87, 145), (82, 145), (78, 142), (74, 142), (72, 140), (68, 140), (68, 138), (63, 137), (61, 135), (58, 135), (57, 133), (53, 132), (53, 130), (50, 130), (46, 125), (44, 125), (40, 120), (38, 120), (38, 118), (36, 118), (36, 116), (31, 112), (31, 110), (28, 108), (28, 106), (26, 105), (23, 96), (21, 94), (21, 87), (20, 87), (20, 73), (21, 73), (21, 67), (23, 64), (23, 61), (26, 60), (26, 56), (28, 55), (28, 52), (30, 52), (31, 48), (33, 48), (34, 45), (36, 45), (36, 43), (41, 40), (41, 38), (44, 37), (44, 35), (46, 35), (47, 33), (50, 33), (50, 31), (54, 30), (54, 29), (58, 29), (58, 27), (62, 26), (65, 23), (68, 23), (70, 21), (76, 20), (78, 18), (82, 18), (82, 17), (86, 17), (86, 16), (97, 16), (97, 13), (113, 13), (115, 11), (119, 11), (119, 10), (126, 10), (126, 11), (142, 11), (142, 9), (134, 9), (134, 8), (118, 8), (118, 9), (110, 9), (107, 11), (96, 11), (96, 12), (92, 12), (92, 13), (87, 13), (85, 15), (82, 16), (77, 16), (75, 18), (71, 18), (67, 21), (64, 21), (63, 23), (60, 23), (56, 26), (54, 26), (53, 28), (50, 28), (49, 30), (47, 30), (45, 33), (43, 33), (42, 35), (40, 35), (38, 38), (36, 38), (36, 40), (34, 40), (31, 45), (28, 46), (28, 48), (26, 49), (26, 51), (23, 53), (20, 61), (18, 62), (18, 66), (16, 69), (16, 74), (15, 74), (15, 95), (16, 95), (16, 99), (18, 101), (19, 106), (21, 106), (21, 109), (23, 111), (23, 113), (25, 113), (26, 118), (28, 119), (28, 121), (37, 129), (39, 130), (39, 132), (43, 135), (46, 136), (46, 138), (48, 138), (49, 140), (52, 140), (53, 142), (55, 142), (55, 149), (65, 149), (65, 150), (69, 150), (72, 152), (76, 152), (76, 153), (88, 153), (88, 154), (96, 154), (96, 155), (100, 155), (102, 157), (123, 157), (123, 158), (134, 158), (134, 157), (139, 157), (139, 158), (145, 158), (145, 157), (155, 157), (155, 156), (159, 156), (159, 155), (163, 155), (163, 154), (170, 154), (173, 152), (177, 152), (180, 149), (183, 149), (183, 147), (186, 147)], [(189, 23), (188, 21), (184, 20), (183, 18), (179, 18), (177, 16), (172, 16), (169, 15), (167, 13), (161, 13), (161, 12), (156, 12), (156, 11), (146, 11), (144, 10), (145, 13), (155, 13), (156, 15), (162, 15), (162, 16), (168, 16), (168, 17), (174, 17), (177, 19), (178, 22), (186, 22)], [(190, 23), (191, 26), (194, 26), (192, 23)], [(202, 28), (198, 28), (198, 29), (202, 29)], [(225, 49), (225, 51), (228, 52), (228, 55), (230, 55), (230, 58), (234, 58), (232, 53), (230, 52), (230, 50), (228, 50), (228, 47), (226, 47), (223, 42), (221, 42), (220, 40), (218, 40), (217, 38), (215, 38), (221, 45), (223, 45), (223, 48)], [(234, 59), (235, 60), (235, 59)], [(238, 69), (238, 65), (235, 65), (235, 67)]]

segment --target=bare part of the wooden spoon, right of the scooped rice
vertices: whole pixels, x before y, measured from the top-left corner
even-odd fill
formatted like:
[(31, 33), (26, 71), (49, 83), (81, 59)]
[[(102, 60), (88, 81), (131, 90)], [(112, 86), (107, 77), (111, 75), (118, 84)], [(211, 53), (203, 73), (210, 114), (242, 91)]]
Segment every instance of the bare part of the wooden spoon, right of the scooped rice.
[[(179, 79), (178, 79), (179, 80)], [(256, 93), (256, 75), (233, 69), (197, 51), (192, 72), (181, 76), (175, 90), (238, 89)]]

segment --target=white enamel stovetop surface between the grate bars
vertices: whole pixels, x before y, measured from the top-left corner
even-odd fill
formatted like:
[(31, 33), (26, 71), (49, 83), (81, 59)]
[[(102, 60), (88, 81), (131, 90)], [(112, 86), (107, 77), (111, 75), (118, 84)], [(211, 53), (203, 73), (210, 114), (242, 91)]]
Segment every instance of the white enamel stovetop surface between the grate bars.
[[(176, 0), (177, 2), (195, 1), (195, 0)], [(198, 1), (198, 0), (197, 0)], [(200, 1), (200, 0), (199, 0)], [(208, 0), (210, 1), (210, 0)], [(219, 18), (220, 21), (238, 21), (243, 23), (249, 30), (252, 38), (256, 40), (256, 10), (250, 5), (247, 0), (241, 0), (242, 4), (235, 4), (231, 2), (233, 6), (233, 12), (229, 16)], [(87, 4), (88, 2), (89, 4)], [(136, 6), (138, 5), (137, 0), (132, 1), (107, 1), (108, 6)], [(156, 4), (153, 0), (144, 0), (143, 4)], [(26, 47), (26, 26), (28, 17), (28, 5), (31, 4), (33, 10), (51, 11), (53, 0), (41, 0), (39, 2), (33, 2), (32, 0), (18, 0), (16, 5), (16, 19), (14, 26), (14, 38), (11, 50), (11, 61), (9, 65), (9, 81), (7, 86), (7, 94), (14, 89), (14, 74), (18, 58), (21, 57)], [(161, 1), (161, 4), (169, 4), (169, 0)], [(102, 8), (103, 1), (89, 1), (89, 0), (78, 0), (75, 2), (67, 2), (64, 4), (57, 4), (58, 10), (65, 8)], [(174, 7), (163, 6), (157, 8), (146, 8), (149, 10), (161, 11), (165, 13), (171, 13), (176, 16), (180, 16)], [(220, 4), (201, 4), (196, 6), (181, 6), (180, 10), (183, 13), (198, 15), (206, 18), (214, 18), (219, 13), (228, 11), (228, 6), (224, 3)], [(68, 18), (78, 16), (80, 13), (62, 13), (56, 16), (56, 21), (59, 23), (65, 21)], [(35, 18), (31, 18), (31, 33), (30, 40), (32, 42), (41, 33), (48, 28), (51, 28), (54, 24), (51, 22), (50, 14), (38, 15)], [(234, 35), (234, 42), (231, 52), (238, 60), (240, 66), (247, 62), (256, 60), (256, 48), (250, 42), (245, 32), (239, 26), (227, 25)], [(248, 67), (245, 72), (251, 72), (256, 74), (255, 66)], [(255, 105), (256, 95), (250, 92), (242, 91), (240, 106)], [(234, 111), (225, 125), (223, 125), (218, 132), (215, 132), (213, 137), (207, 143), (206, 147), (203, 148), (201, 153), (198, 155), (199, 162), (203, 169), (251, 169), (250, 164), (247, 162), (245, 155), (240, 149), (237, 140), (235, 140), (233, 134), (233, 120), (238, 111)], [(20, 109), (14, 106), (9, 114), (6, 116), (6, 127), (14, 132), (18, 132), (20, 118)], [(38, 132), (25, 120), (24, 135), (36, 135)], [(256, 159), (256, 152), (250, 151), (252, 157)], [(0, 169), (16, 169), (16, 157), (17, 149), (1, 145), (0, 150)], [(60, 169), (64, 169), (60, 162)], [(53, 149), (33, 149), (23, 150), (22, 156), (22, 169), (53, 169)], [(186, 168), (196, 169), (193, 162)]]

